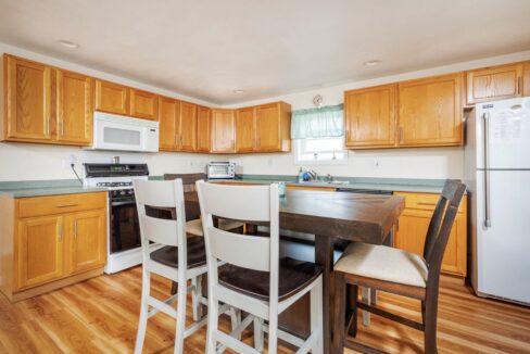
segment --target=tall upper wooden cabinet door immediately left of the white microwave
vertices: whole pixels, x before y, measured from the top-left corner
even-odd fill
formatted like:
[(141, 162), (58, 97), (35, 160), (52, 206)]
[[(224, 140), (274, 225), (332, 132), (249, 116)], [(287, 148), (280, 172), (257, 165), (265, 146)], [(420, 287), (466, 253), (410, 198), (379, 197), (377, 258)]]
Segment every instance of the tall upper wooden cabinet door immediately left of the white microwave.
[(56, 140), (79, 146), (92, 142), (92, 79), (58, 69)]

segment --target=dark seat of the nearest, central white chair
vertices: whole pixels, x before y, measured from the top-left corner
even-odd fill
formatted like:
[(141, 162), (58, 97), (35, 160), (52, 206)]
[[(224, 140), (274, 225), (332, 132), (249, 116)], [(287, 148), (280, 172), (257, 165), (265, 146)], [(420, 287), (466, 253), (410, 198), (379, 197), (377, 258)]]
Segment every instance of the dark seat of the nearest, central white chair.
[[(321, 274), (321, 267), (310, 262), (281, 258), (278, 275), (279, 301), (289, 299)], [(219, 283), (237, 292), (268, 301), (269, 273), (241, 268), (231, 264), (219, 267)]]

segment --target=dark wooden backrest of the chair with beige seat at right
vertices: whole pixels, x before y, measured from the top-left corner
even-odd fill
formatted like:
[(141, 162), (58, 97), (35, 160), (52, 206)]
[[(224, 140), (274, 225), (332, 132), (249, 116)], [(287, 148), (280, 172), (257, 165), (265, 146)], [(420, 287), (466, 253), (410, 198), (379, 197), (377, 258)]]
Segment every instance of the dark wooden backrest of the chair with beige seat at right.
[[(440, 274), (443, 253), (447, 245), (458, 206), (466, 191), (459, 180), (447, 179), (432, 214), (424, 246), (424, 258), (429, 267), (429, 278)], [(437, 280), (438, 282), (438, 280)]]

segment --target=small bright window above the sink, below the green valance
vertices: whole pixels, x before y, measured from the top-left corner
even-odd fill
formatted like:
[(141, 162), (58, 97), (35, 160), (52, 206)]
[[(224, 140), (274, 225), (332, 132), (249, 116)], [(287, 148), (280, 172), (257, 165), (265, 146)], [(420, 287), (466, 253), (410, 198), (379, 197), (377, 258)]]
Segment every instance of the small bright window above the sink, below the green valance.
[(295, 164), (346, 164), (343, 137), (294, 140)]

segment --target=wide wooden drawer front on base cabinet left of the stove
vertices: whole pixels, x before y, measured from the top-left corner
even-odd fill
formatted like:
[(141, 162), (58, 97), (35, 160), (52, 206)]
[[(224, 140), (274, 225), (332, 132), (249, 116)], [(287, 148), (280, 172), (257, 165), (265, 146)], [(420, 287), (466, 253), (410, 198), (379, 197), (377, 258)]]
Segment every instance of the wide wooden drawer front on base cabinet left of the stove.
[(64, 214), (106, 207), (106, 192), (24, 198), (17, 204), (21, 218)]

